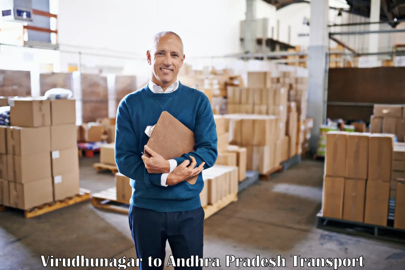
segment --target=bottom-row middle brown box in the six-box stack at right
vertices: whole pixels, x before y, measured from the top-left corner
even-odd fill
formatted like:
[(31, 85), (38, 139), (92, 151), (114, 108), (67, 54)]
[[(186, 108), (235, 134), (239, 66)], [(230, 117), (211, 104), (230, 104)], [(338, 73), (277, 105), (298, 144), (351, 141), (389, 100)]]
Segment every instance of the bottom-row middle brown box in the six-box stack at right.
[(343, 199), (343, 219), (363, 222), (365, 199), (366, 180), (346, 178)]

